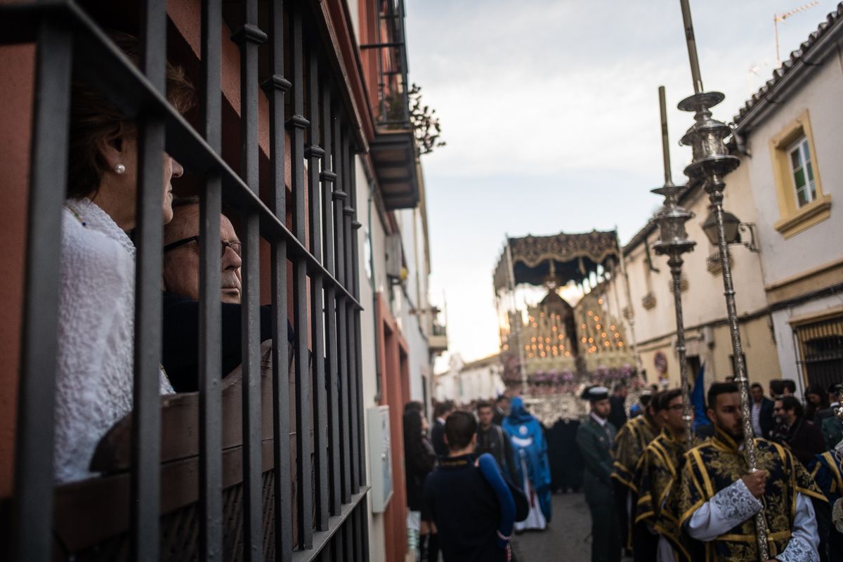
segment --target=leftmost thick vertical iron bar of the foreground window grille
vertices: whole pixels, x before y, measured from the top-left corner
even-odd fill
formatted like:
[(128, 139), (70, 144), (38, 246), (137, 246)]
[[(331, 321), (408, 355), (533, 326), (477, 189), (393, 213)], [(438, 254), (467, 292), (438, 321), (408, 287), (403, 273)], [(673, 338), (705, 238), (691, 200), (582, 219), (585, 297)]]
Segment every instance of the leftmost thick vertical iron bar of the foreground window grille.
[(51, 559), (58, 335), (59, 228), (67, 191), (72, 34), (40, 23), (27, 209), (24, 314), (14, 453), (12, 559)]

